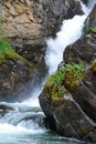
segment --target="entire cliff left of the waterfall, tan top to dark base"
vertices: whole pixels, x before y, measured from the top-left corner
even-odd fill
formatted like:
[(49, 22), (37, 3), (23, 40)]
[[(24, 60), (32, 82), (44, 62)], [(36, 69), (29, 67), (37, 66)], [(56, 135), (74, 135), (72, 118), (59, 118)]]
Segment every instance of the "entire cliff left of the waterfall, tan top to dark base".
[[(7, 96), (29, 91), (25, 86), (34, 73), (44, 73), (46, 37), (58, 30), (64, 18), (82, 14), (82, 10), (76, 0), (2, 0), (0, 10), (4, 37), (15, 52), (26, 59), (13, 53), (10, 56), (10, 52), (7, 54), (7, 45), (0, 45), (4, 51), (3, 62), (0, 60), (0, 97), (7, 100)], [(1, 35), (1, 39), (4, 37)]]

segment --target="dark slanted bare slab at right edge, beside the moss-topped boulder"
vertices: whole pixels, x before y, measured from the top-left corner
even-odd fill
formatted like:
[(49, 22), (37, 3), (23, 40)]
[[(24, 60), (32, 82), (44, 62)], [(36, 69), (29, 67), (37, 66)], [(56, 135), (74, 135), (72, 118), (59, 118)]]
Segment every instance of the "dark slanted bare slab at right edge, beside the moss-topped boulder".
[(73, 99), (96, 122), (96, 74), (88, 71), (83, 82), (73, 92)]

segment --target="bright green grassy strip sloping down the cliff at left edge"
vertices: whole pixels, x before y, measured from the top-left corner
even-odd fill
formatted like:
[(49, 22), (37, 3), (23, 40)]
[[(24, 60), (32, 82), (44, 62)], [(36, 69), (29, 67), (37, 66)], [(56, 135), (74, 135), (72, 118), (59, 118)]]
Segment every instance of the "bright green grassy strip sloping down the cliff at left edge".
[(26, 62), (30, 66), (33, 66), (33, 63), (30, 63), (26, 59), (19, 55), (10, 45), (9, 40), (7, 39), (7, 33), (3, 28), (3, 19), (0, 16), (0, 63), (7, 62), (8, 59), (18, 58)]

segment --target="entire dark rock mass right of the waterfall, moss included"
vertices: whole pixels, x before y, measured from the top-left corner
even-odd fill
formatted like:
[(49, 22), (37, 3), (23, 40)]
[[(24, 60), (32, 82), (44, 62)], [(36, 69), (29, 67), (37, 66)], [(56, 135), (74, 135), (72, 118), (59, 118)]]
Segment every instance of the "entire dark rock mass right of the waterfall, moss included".
[(96, 6), (86, 35), (66, 47), (64, 66), (51, 75), (40, 94), (49, 126), (56, 133), (96, 143)]

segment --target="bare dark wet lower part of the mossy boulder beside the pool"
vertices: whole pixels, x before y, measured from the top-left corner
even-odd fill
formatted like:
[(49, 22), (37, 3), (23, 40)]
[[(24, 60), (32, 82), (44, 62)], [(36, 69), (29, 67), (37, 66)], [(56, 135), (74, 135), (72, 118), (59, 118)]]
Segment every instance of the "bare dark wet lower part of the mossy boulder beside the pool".
[(94, 123), (72, 100), (49, 100), (47, 94), (40, 95), (40, 104), (47, 116), (49, 127), (56, 133), (85, 140), (94, 128)]

